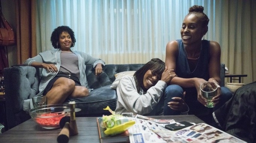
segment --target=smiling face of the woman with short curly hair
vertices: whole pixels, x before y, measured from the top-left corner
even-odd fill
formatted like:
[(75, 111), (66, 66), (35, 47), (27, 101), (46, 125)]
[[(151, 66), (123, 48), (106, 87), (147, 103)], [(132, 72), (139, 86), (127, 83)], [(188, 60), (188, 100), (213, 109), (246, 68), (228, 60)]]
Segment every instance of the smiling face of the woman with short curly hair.
[(72, 39), (68, 32), (62, 32), (59, 35), (59, 44), (61, 46), (62, 51), (70, 51), (70, 47), (72, 44)]

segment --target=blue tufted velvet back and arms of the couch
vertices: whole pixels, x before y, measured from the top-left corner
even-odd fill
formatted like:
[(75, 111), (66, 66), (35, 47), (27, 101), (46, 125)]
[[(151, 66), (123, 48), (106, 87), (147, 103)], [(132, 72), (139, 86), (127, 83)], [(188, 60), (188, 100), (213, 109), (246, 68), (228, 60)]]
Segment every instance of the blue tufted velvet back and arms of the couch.
[[(115, 81), (115, 74), (123, 71), (137, 71), (143, 65), (144, 64), (105, 65), (100, 76), (95, 76), (95, 70), (92, 65), (86, 65), (85, 74), (90, 88), (107, 88), (107, 85)], [(224, 74), (225, 65), (221, 64), (221, 86), (224, 86)], [(38, 93), (41, 69), (24, 65), (13, 66), (4, 69), (4, 78), (6, 117), (9, 128), (12, 128), (30, 118), (30, 116), (23, 111), (23, 102), (26, 99), (31, 99)], [(94, 105), (97, 104), (98, 103), (95, 103)], [(86, 103), (86, 105), (91, 106), (88, 103)]]

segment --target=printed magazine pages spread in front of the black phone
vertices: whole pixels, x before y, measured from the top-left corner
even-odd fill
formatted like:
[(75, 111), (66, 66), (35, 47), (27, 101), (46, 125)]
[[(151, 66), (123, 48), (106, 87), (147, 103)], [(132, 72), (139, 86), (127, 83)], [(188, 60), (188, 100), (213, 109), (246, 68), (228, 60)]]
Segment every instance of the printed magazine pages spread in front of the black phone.
[(246, 143), (235, 136), (204, 123), (195, 124), (177, 131), (168, 130), (155, 122), (148, 121), (147, 125), (167, 143)]

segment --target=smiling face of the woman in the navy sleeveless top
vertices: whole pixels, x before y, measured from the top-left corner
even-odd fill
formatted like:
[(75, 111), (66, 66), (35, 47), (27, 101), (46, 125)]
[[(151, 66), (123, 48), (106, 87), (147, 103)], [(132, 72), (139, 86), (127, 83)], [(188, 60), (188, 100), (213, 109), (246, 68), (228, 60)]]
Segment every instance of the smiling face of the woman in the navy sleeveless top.
[(180, 29), (181, 38), (184, 44), (201, 41), (204, 33), (202, 22), (194, 14), (185, 17)]

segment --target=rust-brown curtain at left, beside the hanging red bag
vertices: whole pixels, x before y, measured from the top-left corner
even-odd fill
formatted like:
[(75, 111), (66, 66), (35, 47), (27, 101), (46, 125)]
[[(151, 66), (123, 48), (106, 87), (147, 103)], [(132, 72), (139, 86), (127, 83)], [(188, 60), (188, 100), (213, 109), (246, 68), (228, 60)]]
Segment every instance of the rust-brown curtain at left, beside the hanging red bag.
[(36, 56), (35, 6), (35, 0), (15, 0), (18, 64)]

